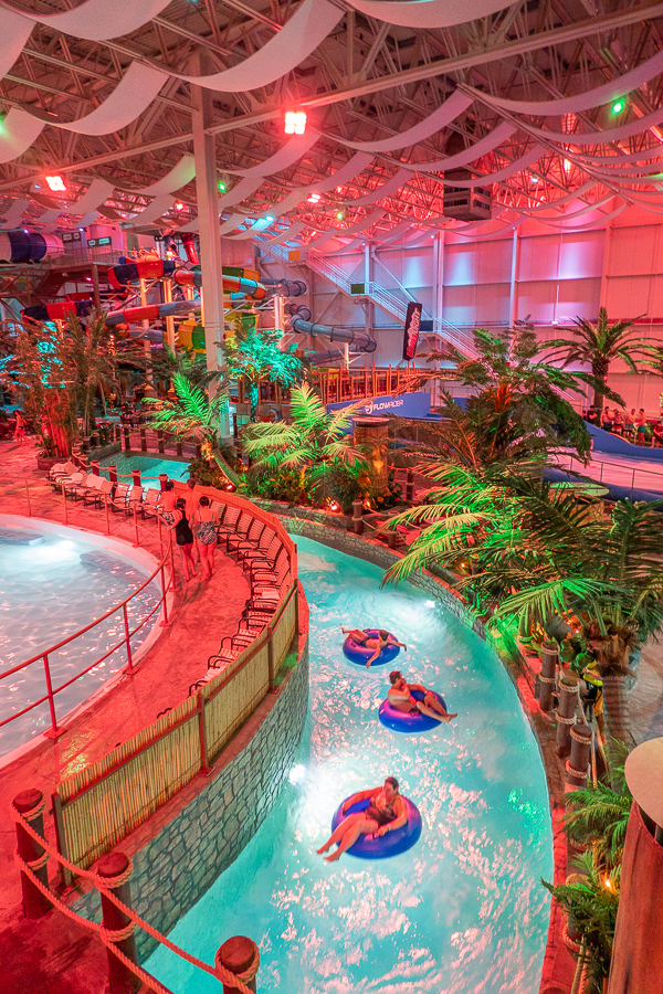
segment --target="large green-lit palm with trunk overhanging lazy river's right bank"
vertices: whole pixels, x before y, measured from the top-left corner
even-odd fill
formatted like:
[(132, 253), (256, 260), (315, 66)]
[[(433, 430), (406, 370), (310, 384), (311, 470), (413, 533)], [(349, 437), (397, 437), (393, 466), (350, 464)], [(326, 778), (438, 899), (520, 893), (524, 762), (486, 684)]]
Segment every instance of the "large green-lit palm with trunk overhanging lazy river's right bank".
[(608, 734), (630, 743), (630, 654), (663, 625), (662, 503), (618, 501), (610, 518), (597, 518), (526, 468), (442, 466), (434, 478), (442, 485), (428, 505), (390, 519), (423, 530), (386, 581), (464, 556), (472, 575), (456, 586), (492, 612), (491, 624), (582, 630), (603, 683)]

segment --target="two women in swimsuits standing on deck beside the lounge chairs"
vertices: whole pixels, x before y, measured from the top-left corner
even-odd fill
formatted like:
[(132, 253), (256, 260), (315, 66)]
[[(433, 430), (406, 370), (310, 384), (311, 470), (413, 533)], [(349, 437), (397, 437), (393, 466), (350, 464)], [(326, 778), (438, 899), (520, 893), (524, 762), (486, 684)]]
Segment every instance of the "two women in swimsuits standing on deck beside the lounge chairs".
[(207, 495), (196, 495), (196, 480), (188, 480), (186, 497), (178, 497), (171, 479), (164, 485), (160, 517), (170, 531), (182, 557), (185, 577), (196, 575), (196, 563), (200, 562), (204, 579), (211, 580), (214, 572), (214, 549), (217, 547), (217, 515)]

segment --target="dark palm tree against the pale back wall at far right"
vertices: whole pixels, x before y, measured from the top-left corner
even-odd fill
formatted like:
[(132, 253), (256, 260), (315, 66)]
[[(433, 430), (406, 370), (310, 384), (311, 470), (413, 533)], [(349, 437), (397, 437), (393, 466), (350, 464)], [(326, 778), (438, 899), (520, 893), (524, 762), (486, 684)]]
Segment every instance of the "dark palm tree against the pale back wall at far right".
[[(643, 315), (639, 315), (643, 317)], [(555, 338), (547, 343), (550, 356), (564, 360), (562, 366), (570, 362), (580, 362), (589, 366), (594, 379), (594, 408), (601, 408), (603, 398), (617, 400), (623, 406), (624, 401), (619, 394), (612, 394), (606, 384), (610, 367), (615, 359), (621, 359), (631, 372), (638, 372), (638, 359), (652, 359), (655, 349), (644, 342), (642, 335), (630, 330), (638, 318), (624, 321), (608, 319), (608, 310), (599, 309), (599, 319), (596, 324), (587, 318), (575, 318), (573, 328), (568, 331), (571, 338)]]

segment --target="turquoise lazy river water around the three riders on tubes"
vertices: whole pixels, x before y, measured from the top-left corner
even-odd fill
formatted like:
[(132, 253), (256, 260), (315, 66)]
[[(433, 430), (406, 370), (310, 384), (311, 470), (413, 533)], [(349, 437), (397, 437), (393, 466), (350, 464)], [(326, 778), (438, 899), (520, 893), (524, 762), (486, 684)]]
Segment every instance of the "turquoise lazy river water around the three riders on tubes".
[[(311, 605), (301, 757), (275, 810), (170, 938), (213, 963), (222, 941), (252, 937), (270, 994), (532, 994), (552, 845), (544, 769), (509, 678), (425, 594), (380, 590), (376, 567), (308, 539), (297, 547)], [(383, 728), (386, 668), (348, 663), (340, 624), (397, 633), (408, 644), (398, 666), (442, 691), (457, 719), (422, 736)], [(315, 850), (339, 802), (388, 775), (421, 811), (420, 842), (391, 859), (326, 864)], [(219, 990), (164, 949), (147, 969), (176, 994)]]

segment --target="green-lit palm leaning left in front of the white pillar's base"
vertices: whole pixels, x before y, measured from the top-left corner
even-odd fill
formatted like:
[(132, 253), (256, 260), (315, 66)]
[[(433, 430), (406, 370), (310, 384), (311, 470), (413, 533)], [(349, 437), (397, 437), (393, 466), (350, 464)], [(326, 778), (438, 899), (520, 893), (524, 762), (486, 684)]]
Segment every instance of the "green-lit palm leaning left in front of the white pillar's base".
[(144, 404), (154, 410), (149, 427), (164, 429), (179, 438), (202, 443), (222, 473), (232, 483), (238, 478), (219, 450), (219, 434), (228, 409), (228, 390), (222, 387), (211, 399), (200, 387), (193, 385), (183, 373), (172, 377), (176, 400), (145, 398)]

